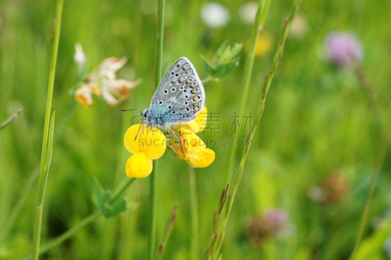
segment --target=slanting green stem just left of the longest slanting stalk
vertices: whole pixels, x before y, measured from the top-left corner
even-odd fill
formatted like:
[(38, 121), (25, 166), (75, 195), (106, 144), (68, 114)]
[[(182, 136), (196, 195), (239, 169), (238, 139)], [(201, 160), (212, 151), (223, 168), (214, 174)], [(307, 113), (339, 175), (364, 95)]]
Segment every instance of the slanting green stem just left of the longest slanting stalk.
[[(239, 105), (239, 111), (238, 115), (243, 115), (244, 109), (246, 107), (246, 104), (248, 102), (248, 92), (250, 89), (250, 81), (251, 81), (251, 74), (253, 72), (254, 67), (254, 60), (255, 60), (255, 48), (257, 46), (257, 40), (259, 38), (260, 32), (263, 29), (263, 26), (266, 21), (267, 13), (269, 12), (269, 6), (270, 6), (271, 0), (260, 0), (258, 4), (257, 14), (255, 17), (255, 22), (253, 26), (253, 30), (251, 32), (250, 37), (250, 44), (248, 47), (247, 57), (244, 64), (244, 74), (243, 74), (243, 92), (240, 100)], [(239, 139), (240, 131), (236, 129), (234, 139)], [(232, 174), (234, 171), (234, 165), (235, 165), (235, 157), (238, 150), (238, 146), (234, 145), (231, 148), (229, 160), (228, 160), (228, 169), (226, 173), (226, 180), (225, 183), (230, 183), (232, 179)]]

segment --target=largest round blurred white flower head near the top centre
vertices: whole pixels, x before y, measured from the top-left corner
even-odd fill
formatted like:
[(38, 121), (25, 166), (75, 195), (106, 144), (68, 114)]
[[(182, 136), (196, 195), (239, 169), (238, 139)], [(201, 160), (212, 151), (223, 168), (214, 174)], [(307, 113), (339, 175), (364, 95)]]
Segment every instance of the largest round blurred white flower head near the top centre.
[(230, 14), (224, 6), (208, 2), (201, 8), (201, 20), (211, 28), (221, 28), (229, 22)]

